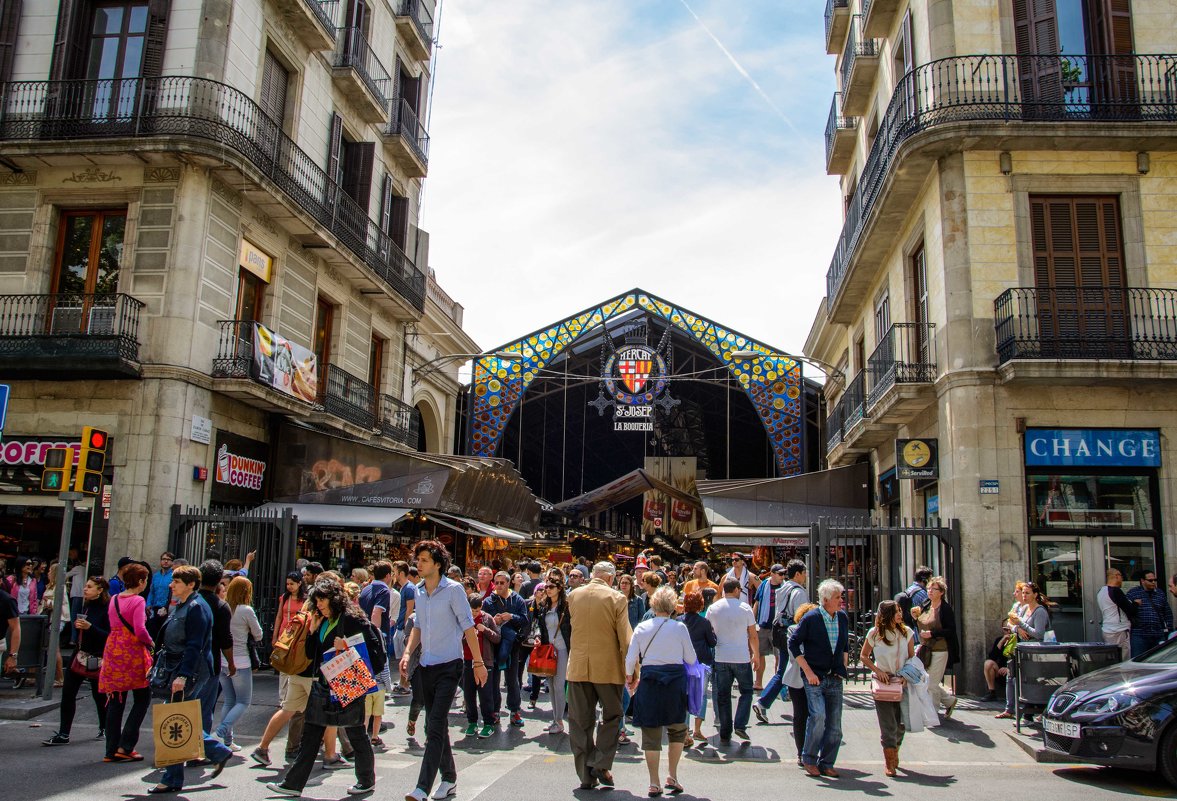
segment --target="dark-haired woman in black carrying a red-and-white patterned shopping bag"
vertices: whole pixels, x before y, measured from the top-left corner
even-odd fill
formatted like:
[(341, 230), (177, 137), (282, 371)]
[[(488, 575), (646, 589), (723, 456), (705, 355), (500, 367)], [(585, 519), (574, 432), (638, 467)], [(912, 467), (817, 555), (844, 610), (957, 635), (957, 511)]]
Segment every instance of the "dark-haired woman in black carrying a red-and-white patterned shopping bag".
[[(302, 742), (298, 759), (286, 772), (286, 776), (280, 782), (271, 782), (266, 787), (278, 795), (300, 796), (314, 768), (322, 735), (327, 727), (334, 726), (346, 732), (352, 748), (355, 749), (355, 783), (347, 788), (348, 794), (371, 793), (375, 788), (375, 757), (372, 753), (372, 742), (364, 728), (364, 696), (359, 695), (346, 705), (335, 700), (322, 672), (322, 658), (328, 650), (344, 655), (348, 650), (347, 639), (360, 634), (364, 636), (372, 661), (372, 670), (380, 673), (387, 661), (384, 643), (380, 633), (368, 622), (364, 610), (347, 598), (347, 590), (339, 583), (319, 579), (307, 598), (312, 608), (312, 633), (306, 639), (306, 655), (314, 666), (314, 683), (311, 685), (311, 697), (306, 705)], [(364, 667), (363, 661), (359, 665)], [(374, 686), (374, 679), (372, 676), (368, 679)]]

